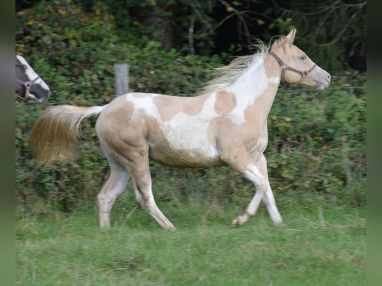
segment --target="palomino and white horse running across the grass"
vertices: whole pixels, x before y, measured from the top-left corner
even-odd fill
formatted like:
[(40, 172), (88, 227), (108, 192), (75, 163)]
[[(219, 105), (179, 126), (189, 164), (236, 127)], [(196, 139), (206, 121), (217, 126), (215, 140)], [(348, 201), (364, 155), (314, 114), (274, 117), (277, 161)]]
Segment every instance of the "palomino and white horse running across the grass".
[(263, 154), (269, 110), (280, 82), (324, 89), (331, 78), (293, 45), (295, 32), (220, 68), (195, 97), (129, 93), (105, 106), (48, 107), (30, 136), (38, 164), (72, 159), (81, 121), (98, 115), (95, 129), (111, 168), (97, 197), (101, 227), (110, 226), (112, 206), (132, 179), (136, 200), (164, 229), (175, 229), (154, 200), (149, 159), (172, 167), (229, 165), (256, 187), (233, 225), (252, 217), (261, 200), (272, 221), (281, 224)]

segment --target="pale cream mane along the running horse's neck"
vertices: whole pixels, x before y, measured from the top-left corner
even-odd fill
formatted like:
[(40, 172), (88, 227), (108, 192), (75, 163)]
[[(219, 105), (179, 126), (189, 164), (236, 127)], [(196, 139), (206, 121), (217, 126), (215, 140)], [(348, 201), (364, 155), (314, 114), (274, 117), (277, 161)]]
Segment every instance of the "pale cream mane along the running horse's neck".
[(266, 45), (261, 40), (257, 40), (258, 43), (253, 45), (253, 47), (257, 49), (255, 54), (240, 56), (231, 61), (231, 63), (227, 66), (213, 68), (212, 72), (216, 74), (216, 77), (207, 82), (199, 94), (212, 93), (216, 90), (229, 87), (236, 81), (245, 69), (261, 59), (271, 48), (280, 45), (284, 39), (285, 36), (277, 36), (276, 38), (273, 37), (269, 45)]

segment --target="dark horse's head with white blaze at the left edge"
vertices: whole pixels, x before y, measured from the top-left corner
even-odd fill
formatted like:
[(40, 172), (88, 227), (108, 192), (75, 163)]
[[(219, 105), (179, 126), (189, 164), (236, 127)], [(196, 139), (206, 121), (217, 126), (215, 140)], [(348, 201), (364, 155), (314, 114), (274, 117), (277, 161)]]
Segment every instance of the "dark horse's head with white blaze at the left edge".
[(37, 102), (50, 95), (48, 85), (20, 55), (16, 55), (16, 93), (23, 95), (25, 100), (33, 98)]

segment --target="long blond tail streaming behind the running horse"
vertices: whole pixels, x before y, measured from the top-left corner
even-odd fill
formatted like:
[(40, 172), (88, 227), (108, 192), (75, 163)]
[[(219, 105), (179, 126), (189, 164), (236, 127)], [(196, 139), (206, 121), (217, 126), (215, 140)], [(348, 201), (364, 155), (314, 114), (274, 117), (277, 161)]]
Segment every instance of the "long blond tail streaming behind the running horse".
[(73, 146), (80, 139), (80, 124), (85, 118), (101, 113), (102, 106), (52, 106), (34, 123), (29, 145), (38, 166), (75, 158)]

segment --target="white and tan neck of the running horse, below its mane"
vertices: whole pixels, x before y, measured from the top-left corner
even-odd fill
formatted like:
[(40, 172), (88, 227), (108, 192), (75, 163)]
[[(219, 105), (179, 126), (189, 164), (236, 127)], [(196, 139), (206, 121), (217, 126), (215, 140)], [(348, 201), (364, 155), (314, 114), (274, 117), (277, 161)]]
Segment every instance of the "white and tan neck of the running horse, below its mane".
[[(261, 104), (261, 112), (264, 116), (268, 116), (268, 112), (272, 106), (278, 86), (280, 84), (281, 70), (270, 68), (268, 58), (264, 61), (259, 58), (232, 84), (228, 91), (236, 95), (238, 108), (245, 110), (252, 106), (256, 99)], [(269, 75), (268, 75), (269, 74)]]

